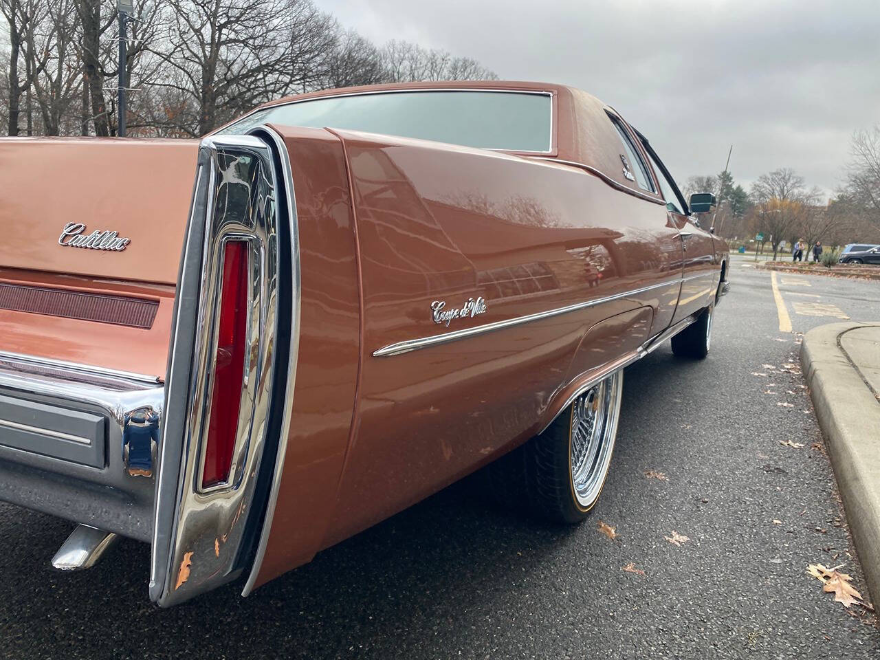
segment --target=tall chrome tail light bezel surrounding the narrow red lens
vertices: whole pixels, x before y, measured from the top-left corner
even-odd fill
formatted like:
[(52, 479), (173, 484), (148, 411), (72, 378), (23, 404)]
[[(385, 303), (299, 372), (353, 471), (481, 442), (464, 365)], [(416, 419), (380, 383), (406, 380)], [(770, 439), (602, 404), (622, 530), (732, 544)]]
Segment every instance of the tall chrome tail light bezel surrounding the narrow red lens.
[[(158, 460), (150, 598), (159, 605), (192, 598), (252, 566), (265, 546), (281, 478), (298, 342), (296, 211), (283, 141), (266, 127), (252, 133), (208, 137), (199, 149)], [(205, 487), (230, 240), (249, 246), (245, 368), (229, 479)], [(251, 583), (258, 568), (253, 565)]]

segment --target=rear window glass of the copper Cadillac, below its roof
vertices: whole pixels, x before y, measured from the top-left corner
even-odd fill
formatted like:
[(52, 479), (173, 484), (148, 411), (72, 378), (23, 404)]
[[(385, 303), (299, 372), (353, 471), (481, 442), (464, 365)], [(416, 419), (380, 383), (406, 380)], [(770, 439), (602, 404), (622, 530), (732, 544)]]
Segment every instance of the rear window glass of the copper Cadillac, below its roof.
[(296, 101), (258, 110), (218, 133), (262, 123), (346, 128), (480, 149), (546, 153), (552, 146), (551, 95), (543, 92), (373, 92)]

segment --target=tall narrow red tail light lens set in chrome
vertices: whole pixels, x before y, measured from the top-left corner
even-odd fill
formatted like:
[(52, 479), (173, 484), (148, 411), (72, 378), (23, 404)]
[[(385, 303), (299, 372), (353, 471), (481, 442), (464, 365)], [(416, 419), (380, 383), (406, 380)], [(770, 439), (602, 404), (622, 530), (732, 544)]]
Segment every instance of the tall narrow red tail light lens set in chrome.
[(224, 248), (211, 416), (202, 466), (203, 488), (224, 483), (230, 477), (244, 385), (248, 253), (248, 244), (243, 240), (228, 241)]

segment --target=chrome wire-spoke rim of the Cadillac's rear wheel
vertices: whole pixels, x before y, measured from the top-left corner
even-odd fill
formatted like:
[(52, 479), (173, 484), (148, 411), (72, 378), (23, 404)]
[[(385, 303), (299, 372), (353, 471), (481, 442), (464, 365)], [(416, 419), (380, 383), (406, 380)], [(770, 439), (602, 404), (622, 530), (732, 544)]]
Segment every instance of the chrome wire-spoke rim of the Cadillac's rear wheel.
[(596, 502), (611, 463), (620, 406), (620, 373), (593, 385), (572, 403), (569, 463), (577, 502)]

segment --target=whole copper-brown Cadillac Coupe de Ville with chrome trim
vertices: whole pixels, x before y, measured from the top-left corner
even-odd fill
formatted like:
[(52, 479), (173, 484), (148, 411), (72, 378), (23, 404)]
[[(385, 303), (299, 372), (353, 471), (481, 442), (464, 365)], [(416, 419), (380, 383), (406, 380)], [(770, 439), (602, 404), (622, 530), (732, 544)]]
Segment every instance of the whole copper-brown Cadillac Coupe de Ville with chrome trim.
[[(244, 594), (481, 466), (576, 523), (622, 373), (705, 357), (726, 247), (590, 95), (405, 84), (201, 142), (0, 141), (0, 498)], [(36, 191), (41, 191), (39, 194)], [(497, 460), (496, 459), (499, 459)]]

